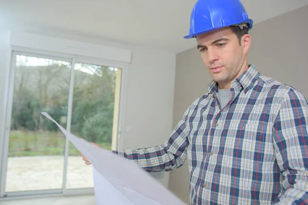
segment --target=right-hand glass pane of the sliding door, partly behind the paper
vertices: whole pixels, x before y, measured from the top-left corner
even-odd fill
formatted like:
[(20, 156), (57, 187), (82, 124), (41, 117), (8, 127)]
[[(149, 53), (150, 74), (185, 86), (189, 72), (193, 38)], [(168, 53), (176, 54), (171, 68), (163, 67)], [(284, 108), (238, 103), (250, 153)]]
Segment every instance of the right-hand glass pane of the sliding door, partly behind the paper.
[[(117, 121), (121, 69), (76, 63), (71, 132), (111, 150), (113, 115)], [(117, 130), (117, 129), (115, 129)], [(67, 189), (93, 187), (92, 167), (86, 166), (79, 151), (70, 143)]]

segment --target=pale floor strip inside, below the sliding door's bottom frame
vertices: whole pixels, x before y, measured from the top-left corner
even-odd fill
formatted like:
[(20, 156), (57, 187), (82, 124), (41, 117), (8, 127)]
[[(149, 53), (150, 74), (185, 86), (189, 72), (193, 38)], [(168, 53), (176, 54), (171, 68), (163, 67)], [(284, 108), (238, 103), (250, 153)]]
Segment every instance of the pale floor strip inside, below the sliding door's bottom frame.
[(1, 205), (93, 205), (96, 204), (94, 195), (83, 196), (61, 196), (22, 200), (0, 201)]

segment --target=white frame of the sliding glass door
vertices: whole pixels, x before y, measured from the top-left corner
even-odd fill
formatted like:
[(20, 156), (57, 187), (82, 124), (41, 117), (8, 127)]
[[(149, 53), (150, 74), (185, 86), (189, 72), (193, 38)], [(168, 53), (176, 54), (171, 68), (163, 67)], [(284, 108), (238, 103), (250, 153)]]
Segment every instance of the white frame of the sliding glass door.
[[(44, 36), (43, 36), (44, 38)], [(33, 40), (33, 39), (32, 39)], [(56, 40), (56, 38), (54, 38)], [(69, 41), (67, 41), (69, 42)], [(78, 43), (75, 43), (75, 47), (80, 46)], [(83, 43), (80, 43), (83, 44)], [(45, 45), (46, 46), (46, 45)], [(35, 47), (35, 46), (34, 46)], [(10, 198), (32, 198), (37, 196), (63, 196), (63, 195), (80, 195), (80, 194), (90, 194), (94, 193), (93, 188), (85, 188), (85, 189), (66, 189), (66, 174), (67, 174), (67, 164), (68, 164), (68, 139), (66, 139), (66, 149), (65, 149), (65, 166), (64, 166), (64, 176), (63, 176), (63, 188), (60, 190), (42, 190), (42, 191), (27, 191), (27, 192), (5, 192), (5, 183), (6, 183), (6, 174), (7, 174), (7, 160), (8, 160), (8, 151), (9, 151), (9, 135), (10, 135), (10, 125), (11, 125), (11, 114), (12, 114), (12, 103), (13, 103), (13, 95), (14, 95), (14, 76), (15, 76), (15, 64), (16, 64), (16, 55), (26, 55), (26, 56), (35, 56), (35, 57), (44, 57), (44, 58), (54, 58), (59, 60), (66, 60), (70, 61), (72, 64), (71, 68), (71, 82), (70, 85), (73, 85), (73, 71), (75, 63), (88, 63), (88, 64), (95, 64), (95, 65), (102, 65), (102, 66), (109, 66), (109, 67), (116, 67), (122, 69), (122, 76), (121, 76), (121, 88), (120, 88), (120, 102), (119, 102), (119, 116), (118, 116), (118, 132), (117, 132), (117, 149), (123, 148), (123, 137), (122, 137), (122, 130), (124, 128), (124, 111), (125, 111), (125, 104), (126, 104), (126, 80), (127, 80), (127, 70), (128, 64), (130, 61), (116, 61), (97, 56), (85, 56), (78, 54), (71, 54), (68, 52), (58, 52), (55, 51), (48, 51), (49, 48), (44, 48), (44, 50), (35, 48), (25, 48), (23, 45), (16, 46), (16, 44), (11, 43), (10, 47), (10, 64), (8, 65), (9, 72), (7, 73), (7, 92), (6, 92), (6, 104), (5, 104), (5, 123), (4, 123), (4, 133), (3, 137), (0, 137), (0, 144), (2, 144), (2, 153), (0, 153), (0, 165), (1, 165), (1, 175), (0, 175), (0, 201), (4, 199)], [(102, 47), (103, 49), (108, 47)], [(94, 48), (95, 49), (95, 48)], [(52, 49), (49, 49), (52, 50)], [(130, 52), (129, 55), (131, 55)], [(127, 56), (126, 56), (127, 57)], [(123, 59), (119, 58), (119, 59)], [(69, 104), (72, 106), (72, 97), (73, 97), (73, 86), (69, 88)], [(72, 112), (72, 110), (68, 111)], [(68, 114), (68, 118), (71, 116)], [(67, 123), (70, 125), (70, 123)], [(70, 128), (70, 127), (69, 127)], [(2, 156), (1, 156), (2, 154)], [(82, 163), (81, 163), (82, 166)]]

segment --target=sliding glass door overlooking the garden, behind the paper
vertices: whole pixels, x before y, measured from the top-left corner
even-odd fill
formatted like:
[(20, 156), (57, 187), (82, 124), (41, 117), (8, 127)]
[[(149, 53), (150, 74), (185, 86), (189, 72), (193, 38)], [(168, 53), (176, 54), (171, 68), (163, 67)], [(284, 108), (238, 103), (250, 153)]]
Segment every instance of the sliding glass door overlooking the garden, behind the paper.
[(6, 195), (93, 188), (92, 167), (40, 113), (76, 136), (116, 149), (122, 70), (97, 60), (13, 53), (1, 180)]

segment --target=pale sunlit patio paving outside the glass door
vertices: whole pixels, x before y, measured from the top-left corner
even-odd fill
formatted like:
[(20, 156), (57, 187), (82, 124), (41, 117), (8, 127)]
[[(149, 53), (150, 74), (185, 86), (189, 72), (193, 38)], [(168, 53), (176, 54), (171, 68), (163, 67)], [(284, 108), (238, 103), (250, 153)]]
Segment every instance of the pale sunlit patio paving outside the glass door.
[[(9, 157), (6, 192), (62, 189), (63, 156)], [(67, 189), (93, 187), (92, 166), (68, 157)]]

